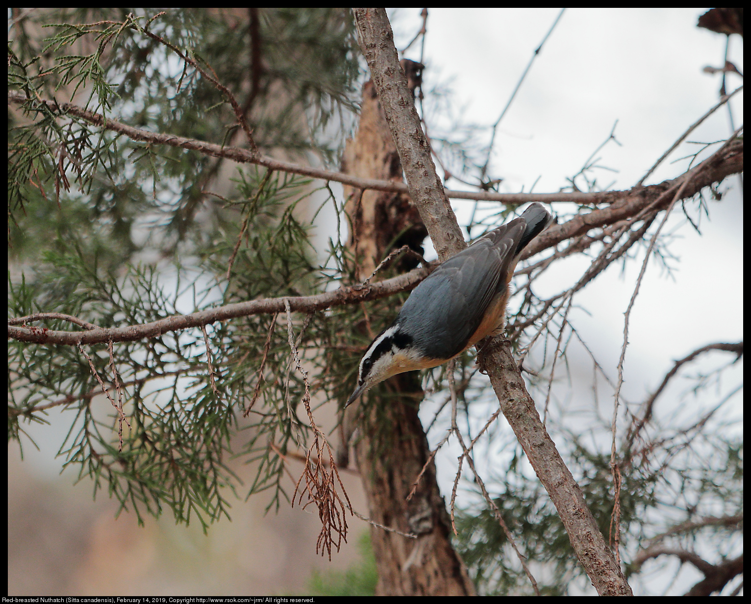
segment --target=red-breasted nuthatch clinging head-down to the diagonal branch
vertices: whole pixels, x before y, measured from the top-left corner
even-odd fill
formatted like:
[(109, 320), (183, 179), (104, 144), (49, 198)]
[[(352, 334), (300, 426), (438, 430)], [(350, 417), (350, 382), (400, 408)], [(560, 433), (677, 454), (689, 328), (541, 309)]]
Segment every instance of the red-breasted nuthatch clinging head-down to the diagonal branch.
[(409, 294), (396, 321), (368, 346), (345, 407), (397, 373), (437, 367), (499, 334), (521, 252), (552, 220), (541, 204), (532, 204), (430, 273)]

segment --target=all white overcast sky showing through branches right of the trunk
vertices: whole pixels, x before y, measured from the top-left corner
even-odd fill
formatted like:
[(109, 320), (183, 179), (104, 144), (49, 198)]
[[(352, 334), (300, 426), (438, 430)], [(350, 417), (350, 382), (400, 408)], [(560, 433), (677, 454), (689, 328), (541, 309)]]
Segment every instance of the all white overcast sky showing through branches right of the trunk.
[[(520, 87), (511, 108), (499, 125), (492, 159), (493, 177), (504, 178), (502, 192), (557, 192), (568, 185), (586, 159), (610, 134), (620, 146), (608, 143), (599, 153), (599, 165), (617, 173), (596, 172), (602, 186), (629, 189), (684, 131), (719, 100), (720, 76), (704, 74), (706, 65), (722, 66), (724, 35), (696, 27), (707, 8), (568, 8)], [(390, 9), (397, 48), (402, 49), (421, 26), (421, 8)], [(508, 101), (520, 74), (559, 14), (559, 8), (431, 8), (427, 21), (424, 72), (425, 89), (451, 82), (454, 98), (463, 107), (463, 119), (492, 124)], [(728, 59), (743, 73), (742, 41), (734, 35)], [(414, 44), (406, 53), (419, 60)], [(728, 75), (728, 92), (742, 84)], [(743, 92), (731, 100), (734, 126), (743, 123)], [(728, 110), (717, 110), (688, 140), (724, 140), (731, 133)], [(710, 147), (700, 159), (713, 153)], [(689, 160), (674, 162), (697, 146), (683, 143), (646, 184), (659, 183), (682, 174)], [(439, 174), (442, 172), (439, 170)], [(581, 182), (580, 182), (581, 185)], [(466, 189), (449, 180), (451, 189)], [(701, 219), (701, 236), (675, 211), (664, 232), (674, 232), (670, 251), (671, 275), (651, 261), (632, 310), (629, 349), (626, 352), (623, 397), (638, 402), (653, 391), (673, 366), (708, 343), (743, 339), (743, 206), (738, 177), (730, 177), (720, 189), (722, 202), (709, 202), (710, 216)], [(452, 202), (457, 217), (466, 222), (472, 202)], [(689, 204), (690, 205), (690, 204)], [(557, 208), (557, 210), (556, 210)], [(565, 204), (553, 210), (566, 212)], [(695, 216), (695, 213), (692, 213)], [(662, 218), (662, 217), (661, 217)], [(430, 254), (430, 252), (428, 252)], [(435, 257), (433, 252), (432, 257)], [(644, 253), (625, 273), (611, 267), (587, 286), (576, 300), (583, 310), (572, 312), (572, 322), (605, 367), (617, 378), (617, 362), (623, 343), (623, 313), (629, 304)], [(559, 291), (581, 275), (586, 258), (559, 263), (556, 273), (545, 277), (535, 293)], [(545, 291), (547, 283), (549, 291)], [(586, 310), (586, 312), (585, 312)], [(686, 373), (696, 375), (731, 361), (727, 353), (710, 353), (692, 364)], [(572, 349), (573, 385), (563, 380), (569, 400), (559, 401), (560, 412), (581, 421), (593, 406), (586, 391), (591, 382), (591, 363), (581, 350)], [(687, 411), (698, 415), (742, 383), (742, 362), (726, 371), (722, 385), (689, 402)], [(581, 380), (581, 381), (579, 381)], [(676, 400), (692, 382), (675, 379), (662, 398), (659, 414), (667, 420), (677, 409)], [(602, 395), (602, 393), (601, 393)], [(603, 397), (604, 399), (605, 397)], [(611, 400), (600, 400), (609, 416)], [(539, 396), (535, 395), (538, 408)], [(430, 418), (431, 409), (423, 410)], [(740, 434), (742, 391), (726, 403), (726, 433)], [(591, 413), (590, 413), (591, 415)], [(484, 422), (478, 423), (475, 433)], [(625, 429), (626, 424), (621, 424)], [(431, 442), (442, 435), (431, 434)], [(560, 435), (553, 435), (559, 446)], [(605, 443), (602, 443), (603, 445)], [(609, 450), (609, 446), (608, 449)], [(442, 491), (451, 493), (458, 448), (439, 454)], [(487, 470), (502, 464), (504, 455), (490, 456)], [(479, 461), (482, 464), (482, 460)], [(468, 475), (465, 475), (468, 476)], [(466, 500), (465, 500), (466, 501)], [(683, 593), (685, 581), (701, 575), (686, 565), (668, 593)], [(669, 574), (669, 573), (668, 573)], [(660, 590), (665, 574), (655, 575), (651, 587)], [(649, 582), (649, 581), (647, 581)], [(588, 587), (588, 586), (587, 586)]]

